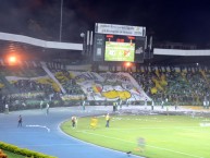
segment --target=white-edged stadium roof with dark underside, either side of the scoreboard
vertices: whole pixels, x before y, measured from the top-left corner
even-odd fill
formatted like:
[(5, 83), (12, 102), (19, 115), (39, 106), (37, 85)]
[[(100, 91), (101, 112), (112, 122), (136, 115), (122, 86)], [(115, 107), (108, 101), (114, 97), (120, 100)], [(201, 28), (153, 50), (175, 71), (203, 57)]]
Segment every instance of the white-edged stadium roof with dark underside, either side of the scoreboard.
[[(82, 59), (82, 52), (78, 51), (83, 49), (82, 44), (52, 44), (51, 41), (45, 41), (26, 36), (5, 33), (0, 34), (3, 35), (0, 36), (1, 58), (8, 52), (24, 52), (25, 54), (33, 56), (34, 59), (39, 57), (45, 60), (53, 58), (58, 59), (58, 57), (75, 61)], [(74, 48), (75, 46), (77, 48)], [(210, 65), (210, 50), (174, 50), (155, 48), (153, 58), (145, 60), (145, 63), (156, 65), (197, 65), (197, 63), (200, 65)]]

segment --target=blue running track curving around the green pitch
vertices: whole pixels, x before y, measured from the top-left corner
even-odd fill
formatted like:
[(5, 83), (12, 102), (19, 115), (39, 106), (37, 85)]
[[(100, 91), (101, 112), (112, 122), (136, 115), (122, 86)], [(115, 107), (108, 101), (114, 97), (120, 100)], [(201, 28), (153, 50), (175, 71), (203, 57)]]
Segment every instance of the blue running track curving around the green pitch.
[[(107, 109), (108, 108), (108, 109)], [(23, 110), (0, 113), (0, 141), (28, 148), (58, 158), (127, 158), (125, 153), (91, 145), (65, 135), (59, 125), (73, 114), (77, 117), (111, 112), (111, 108), (83, 111), (79, 107), (50, 108), (46, 110)], [(23, 126), (17, 127), (18, 116), (23, 117)], [(131, 155), (132, 158), (140, 158)]]

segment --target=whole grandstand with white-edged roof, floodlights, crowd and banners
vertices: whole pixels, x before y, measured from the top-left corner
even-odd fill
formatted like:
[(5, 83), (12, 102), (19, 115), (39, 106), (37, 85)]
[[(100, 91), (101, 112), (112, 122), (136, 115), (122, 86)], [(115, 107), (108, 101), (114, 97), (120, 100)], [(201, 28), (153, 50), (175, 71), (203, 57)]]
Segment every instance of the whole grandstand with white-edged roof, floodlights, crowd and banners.
[(40, 108), (41, 101), (51, 107), (84, 100), (90, 106), (209, 106), (210, 50), (152, 48), (143, 62), (95, 61), (88, 40), (69, 44), (0, 33), (0, 111), (5, 105), (10, 110)]

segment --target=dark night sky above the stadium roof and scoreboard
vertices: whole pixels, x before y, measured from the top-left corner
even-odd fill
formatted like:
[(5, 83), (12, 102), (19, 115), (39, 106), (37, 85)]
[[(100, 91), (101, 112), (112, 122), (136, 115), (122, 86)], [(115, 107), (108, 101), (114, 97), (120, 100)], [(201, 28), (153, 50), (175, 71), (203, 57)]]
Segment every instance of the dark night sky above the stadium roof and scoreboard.
[[(0, 32), (59, 40), (61, 0), (1, 0)], [(62, 41), (95, 23), (146, 26), (156, 41), (210, 42), (209, 0), (63, 0)]]

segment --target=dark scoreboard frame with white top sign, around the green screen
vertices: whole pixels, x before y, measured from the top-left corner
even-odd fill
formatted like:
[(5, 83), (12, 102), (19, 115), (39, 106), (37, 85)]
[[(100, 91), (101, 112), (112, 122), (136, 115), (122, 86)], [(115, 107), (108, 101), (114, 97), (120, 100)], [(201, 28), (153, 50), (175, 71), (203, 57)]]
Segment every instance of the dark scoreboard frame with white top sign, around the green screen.
[[(125, 58), (122, 58), (122, 60), (120, 58), (116, 58), (115, 60), (106, 59), (107, 57), (106, 52), (108, 52), (106, 51), (106, 48), (107, 48), (106, 44), (109, 44), (108, 41), (119, 42), (120, 46), (123, 45), (123, 42), (128, 44), (129, 41), (131, 41), (131, 45), (135, 44), (135, 47), (134, 47), (135, 49), (133, 52), (134, 59), (133, 60), (126, 60)], [(146, 27), (103, 24), (103, 23), (95, 24), (94, 57), (92, 57), (94, 61), (98, 61), (98, 62), (129, 61), (129, 62), (143, 63), (144, 53), (146, 49), (147, 49)], [(122, 53), (124, 53), (125, 50), (118, 50), (118, 51), (122, 51)]]

